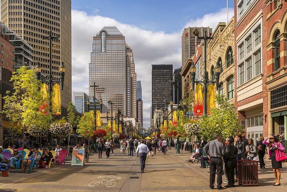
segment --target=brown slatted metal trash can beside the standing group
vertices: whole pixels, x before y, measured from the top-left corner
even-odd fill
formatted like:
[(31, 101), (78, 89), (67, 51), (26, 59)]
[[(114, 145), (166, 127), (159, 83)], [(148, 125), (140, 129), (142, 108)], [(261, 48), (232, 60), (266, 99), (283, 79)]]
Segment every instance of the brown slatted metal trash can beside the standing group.
[(237, 161), (238, 184), (258, 186), (258, 162), (254, 160)]

